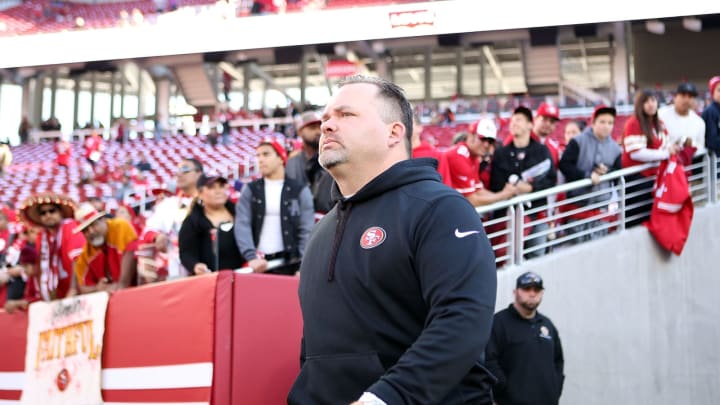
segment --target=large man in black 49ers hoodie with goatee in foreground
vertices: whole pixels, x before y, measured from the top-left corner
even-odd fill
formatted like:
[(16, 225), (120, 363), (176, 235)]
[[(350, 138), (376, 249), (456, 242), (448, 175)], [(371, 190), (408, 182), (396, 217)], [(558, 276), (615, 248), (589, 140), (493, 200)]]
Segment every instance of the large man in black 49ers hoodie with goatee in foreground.
[(300, 267), (302, 366), (288, 404), (489, 405), (497, 280), (480, 218), (434, 159), (410, 159), (402, 89), (364, 76), (339, 86), (319, 157), (338, 202)]

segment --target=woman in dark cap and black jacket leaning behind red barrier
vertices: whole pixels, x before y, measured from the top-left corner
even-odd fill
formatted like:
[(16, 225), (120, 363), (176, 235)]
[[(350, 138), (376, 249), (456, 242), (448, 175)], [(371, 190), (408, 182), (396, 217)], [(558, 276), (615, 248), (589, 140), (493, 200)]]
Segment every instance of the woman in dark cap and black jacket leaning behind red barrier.
[(233, 214), (228, 201), (227, 179), (202, 175), (198, 197), (178, 234), (180, 261), (190, 274), (242, 267), (245, 259), (235, 244)]

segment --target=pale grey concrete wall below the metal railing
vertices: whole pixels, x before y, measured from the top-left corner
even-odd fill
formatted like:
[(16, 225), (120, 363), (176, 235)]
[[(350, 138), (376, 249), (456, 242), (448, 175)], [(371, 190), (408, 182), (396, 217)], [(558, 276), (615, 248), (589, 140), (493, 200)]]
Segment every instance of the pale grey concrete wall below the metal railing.
[(527, 270), (565, 353), (561, 405), (720, 398), (720, 206), (698, 208), (682, 256), (630, 229), (498, 272), (497, 308)]

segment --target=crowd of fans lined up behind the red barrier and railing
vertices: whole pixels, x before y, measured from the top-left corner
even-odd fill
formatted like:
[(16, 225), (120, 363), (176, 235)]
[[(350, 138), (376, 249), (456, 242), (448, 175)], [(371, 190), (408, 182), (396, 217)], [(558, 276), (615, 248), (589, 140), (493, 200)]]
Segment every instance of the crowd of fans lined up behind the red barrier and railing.
[[(481, 118), (443, 148), (433, 145), (432, 135), (416, 116), (408, 142), (413, 158), (435, 158), (443, 182), (476, 207), (584, 178), (592, 186), (576, 194), (605, 190), (596, 193), (597, 199), (608, 200), (612, 185), (600, 181), (608, 172), (670, 156), (691, 164), (706, 153), (720, 154), (720, 76), (708, 87), (713, 102), (700, 113), (695, 109), (699, 91), (690, 83), (681, 83), (672, 103), (663, 107), (653, 91), (637, 92), (634, 112), (625, 119), (619, 139), (611, 136), (618, 118), (612, 106), (596, 106), (582, 130), (583, 124), (575, 121), (567, 121), (561, 130), (559, 109), (542, 103), (535, 113), (522, 105), (514, 108), (506, 122)], [(229, 178), (206, 170), (212, 162), (185, 156), (175, 167), (173, 182), (158, 185), (149, 180), (157, 162), (133, 150), (137, 141), (123, 146), (127, 157), (116, 169), (103, 153), (108, 144), (123, 139), (93, 134), (75, 145), (81, 159), (73, 159), (72, 143), (56, 142), (58, 166), (70, 170), (80, 165), (87, 174), (81, 183), (110, 184), (112, 192), (78, 202), (66, 193), (42, 191), (21, 202), (4, 202), (0, 299), (5, 309), (222, 269), (295, 274), (313, 217), (316, 220), (332, 207), (332, 181), (318, 163), (322, 117), (312, 110), (294, 117), (294, 131), (288, 132), (295, 132), (297, 139), (271, 132), (254, 141), (243, 140), (237, 132), (229, 138), (252, 142), (249, 149), (258, 169), (252, 179)], [(3, 155), (7, 176), (12, 153), (3, 146), (8, 149)], [(655, 171), (637, 176), (652, 177)], [(545, 198), (530, 203), (544, 204)], [(649, 212), (647, 206), (637, 209)], [(582, 221), (566, 232), (587, 228), (587, 221)], [(544, 248), (529, 249), (527, 256), (545, 253)]]

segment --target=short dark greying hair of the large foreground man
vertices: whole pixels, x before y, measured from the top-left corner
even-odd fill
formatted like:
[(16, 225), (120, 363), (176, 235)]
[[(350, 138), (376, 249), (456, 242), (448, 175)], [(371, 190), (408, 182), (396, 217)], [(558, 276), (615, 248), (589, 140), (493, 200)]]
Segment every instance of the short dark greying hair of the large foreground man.
[(347, 84), (368, 83), (378, 88), (380, 98), (387, 102), (388, 109), (381, 110), (386, 121), (400, 121), (405, 125), (405, 148), (408, 157), (412, 155), (413, 110), (405, 97), (405, 91), (397, 84), (380, 77), (355, 75), (349, 76), (338, 84), (338, 88)]

